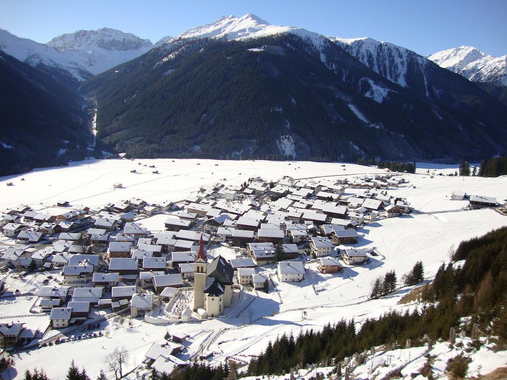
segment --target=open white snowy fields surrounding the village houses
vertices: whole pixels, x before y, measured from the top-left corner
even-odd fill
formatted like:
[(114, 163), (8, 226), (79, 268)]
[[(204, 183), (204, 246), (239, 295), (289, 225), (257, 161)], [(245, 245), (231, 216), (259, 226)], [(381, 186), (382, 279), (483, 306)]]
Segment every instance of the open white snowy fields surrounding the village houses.
[[(150, 168), (150, 165), (155, 165), (156, 169)], [(422, 168), (418, 169), (418, 174), (404, 174), (409, 181), (407, 184), (391, 189), (388, 193), (406, 198), (421, 213), (382, 219), (358, 231), (364, 236), (354, 246), (375, 246), (380, 253), (380, 256), (373, 257), (370, 264), (347, 267), (344, 273), (322, 275), (315, 271), (315, 262), (307, 262), (305, 280), (296, 284), (280, 284), (274, 275), (274, 265), (267, 265), (257, 271), (271, 275), (270, 292), (259, 292), (258, 295), (253, 291), (244, 292), (239, 306), (239, 301), (233, 305), (238, 308), (226, 309), (225, 314), (228, 316), (225, 318), (168, 326), (151, 325), (141, 319), (134, 320), (132, 326), (128, 326), (127, 322), (122, 325), (120, 321), (110, 321), (105, 326), (107, 337), (20, 353), (16, 357), (15, 370), (11, 369), (11, 378), (16, 377), (13, 371), (21, 376), (26, 369), (34, 366), (44, 367), (51, 378), (60, 378), (62, 370), (68, 367), (72, 358), (75, 358), (79, 367), (86, 367), (90, 376), (94, 377), (102, 368), (104, 356), (118, 346), (125, 346), (130, 351), (130, 370), (141, 364), (151, 343), (162, 340), (166, 330), (177, 330), (192, 337), (190, 340), (193, 343), (189, 346), (188, 355), (202, 348), (204, 351), (216, 352), (212, 359), (214, 362), (225, 360), (226, 356), (248, 361), (252, 355), (262, 352), (268, 341), (283, 332), (297, 335), (301, 329), (320, 328), (342, 318), (354, 318), (360, 323), (391, 309), (413, 307), (397, 305), (400, 297), (410, 290), (407, 288), (400, 289), (389, 297), (368, 300), (372, 282), (390, 270), (394, 270), (400, 279), (418, 260), (423, 261), (426, 277), (430, 279), (439, 265), (449, 259), (450, 249), (457, 247), (460, 241), (507, 225), (507, 217), (491, 209), (445, 212), (466, 205), (463, 201), (451, 201), (449, 196), (452, 191), (492, 196), (498, 201), (507, 198), (507, 177), (462, 178), (435, 175), (431, 178), (426, 173), (431, 165), (418, 164), (418, 167)], [(456, 166), (452, 165), (435, 167), (437, 173), (454, 173), (456, 170)], [(130, 173), (133, 169), (138, 173)], [(153, 170), (158, 170), (160, 174), (152, 174)], [(284, 175), (294, 178), (347, 176), (352, 179), (361, 173), (379, 172), (385, 171), (352, 164), (312, 162), (90, 160), (70, 163), (68, 167), (37, 169), (1, 178), (0, 207), (28, 204), (36, 210), (48, 210), (59, 199), (68, 200), (73, 207), (97, 206), (130, 197), (148, 202), (179, 201), (189, 193), (196, 192), (200, 185), (217, 181), (242, 183), (249, 177), (256, 176), (269, 181), (278, 180)], [(21, 181), (21, 178), (25, 180)], [(315, 180), (318, 181), (319, 178)], [(13, 182), (14, 186), (2, 183), (8, 181)], [(124, 188), (113, 188), (115, 182), (121, 182)], [(163, 229), (166, 217), (167, 215), (155, 215), (141, 219), (140, 222), (154, 232)], [(215, 247), (210, 249), (209, 254), (221, 254), (230, 259), (237, 253), (228, 247)], [(27, 288), (30, 286), (25, 285)], [(5, 311), (9, 303), (4, 305), (0, 302), (0, 317), (27, 314), (25, 311), (29, 307), (28, 303), (29, 300), (23, 301), (11, 314), (10, 311)], [(46, 320), (43, 317), (30, 318)], [(55, 361), (55, 357), (59, 360)], [(129, 378), (135, 378), (134, 375), (135, 371)]]

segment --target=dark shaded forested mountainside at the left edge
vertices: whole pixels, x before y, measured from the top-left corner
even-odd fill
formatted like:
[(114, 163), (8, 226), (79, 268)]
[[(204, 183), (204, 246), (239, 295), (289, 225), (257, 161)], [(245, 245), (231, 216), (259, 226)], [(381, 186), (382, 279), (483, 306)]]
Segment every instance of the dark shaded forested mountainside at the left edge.
[(0, 175), (88, 156), (84, 109), (75, 91), (0, 51)]

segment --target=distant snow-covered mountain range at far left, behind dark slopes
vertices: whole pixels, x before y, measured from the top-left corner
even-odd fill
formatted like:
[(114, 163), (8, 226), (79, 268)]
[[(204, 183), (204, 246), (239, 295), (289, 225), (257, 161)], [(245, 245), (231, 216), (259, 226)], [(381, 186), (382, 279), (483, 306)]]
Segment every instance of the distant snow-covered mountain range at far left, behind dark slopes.
[(74, 82), (83, 81), (130, 61), (152, 47), (150, 40), (110, 28), (63, 34), (47, 44), (21, 39), (0, 29), (0, 50), (53, 73), (57, 80), (66, 76)]

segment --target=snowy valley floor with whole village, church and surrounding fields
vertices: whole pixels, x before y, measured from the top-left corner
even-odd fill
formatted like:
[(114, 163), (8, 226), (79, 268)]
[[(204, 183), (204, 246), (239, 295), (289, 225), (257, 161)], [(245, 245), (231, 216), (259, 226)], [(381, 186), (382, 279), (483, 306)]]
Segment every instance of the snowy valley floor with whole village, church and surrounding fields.
[[(122, 378), (195, 362), (234, 363), (240, 377), (283, 334), (420, 307), (403, 297), (434, 278), (462, 240), (507, 225), (507, 179), (416, 165), (412, 174), (339, 163), (88, 160), (3, 178), (4, 378), (34, 367), (58, 376), (72, 359), (97, 376), (118, 348), (129, 353)], [(417, 262), (423, 278), (409, 285)], [(393, 288), (372, 297), (389, 272)], [(419, 361), (427, 353), (410, 354), (405, 342), (395, 349)], [(400, 366), (381, 366), (386, 351), (377, 350), (351, 360), (350, 376), (380, 378)], [(442, 344), (433, 350), (450, 355)], [(492, 368), (507, 360), (507, 351), (484, 350), (478, 356)], [(276, 378), (327, 376), (336, 364), (325, 364)], [(481, 369), (472, 362), (469, 373)]]

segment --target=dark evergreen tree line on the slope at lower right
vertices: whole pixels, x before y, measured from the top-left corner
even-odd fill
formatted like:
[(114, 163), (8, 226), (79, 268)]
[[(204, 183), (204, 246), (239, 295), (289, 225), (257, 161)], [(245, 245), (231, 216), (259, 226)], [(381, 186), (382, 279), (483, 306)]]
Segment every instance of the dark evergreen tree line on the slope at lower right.
[[(321, 331), (301, 330), (297, 337), (284, 334), (250, 362), (248, 373), (286, 373), (298, 364), (341, 361), (373, 346), (406, 339), (411, 339), (413, 346), (422, 345), (427, 339), (448, 338), (451, 327), (470, 332), (474, 323), (484, 333), (507, 343), (507, 293), (504, 291), (507, 227), (462, 242), (452, 259), (465, 260), (465, 263), (462, 267), (452, 262), (442, 264), (431, 284), (414, 290), (426, 302), (421, 310), (404, 314), (392, 311), (377, 319), (367, 319), (358, 329), (353, 319), (342, 319)], [(416, 263), (406, 281), (417, 281), (421, 278), (418, 276), (423, 276), (423, 271), (422, 265)], [(392, 273), (389, 279), (390, 285), (393, 280), (395, 283)], [(467, 316), (472, 316), (470, 322), (460, 325), (460, 319)]]

